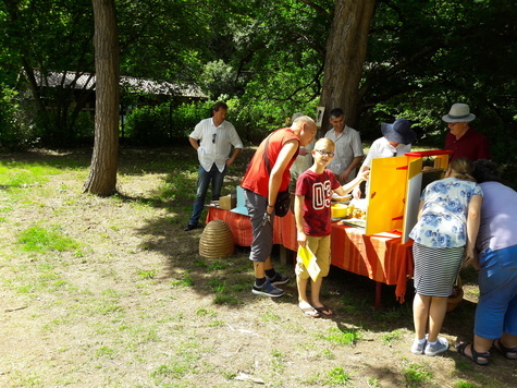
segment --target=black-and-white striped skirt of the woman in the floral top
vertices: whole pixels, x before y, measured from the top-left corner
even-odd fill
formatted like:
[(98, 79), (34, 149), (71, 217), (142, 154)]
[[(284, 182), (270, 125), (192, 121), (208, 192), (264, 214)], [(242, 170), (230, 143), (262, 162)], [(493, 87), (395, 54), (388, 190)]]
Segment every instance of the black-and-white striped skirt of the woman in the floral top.
[(461, 267), (465, 246), (429, 247), (413, 244), (415, 289), (426, 296), (448, 296)]

